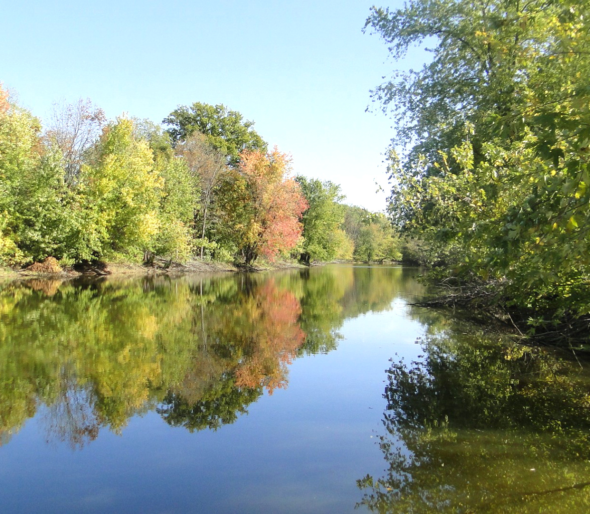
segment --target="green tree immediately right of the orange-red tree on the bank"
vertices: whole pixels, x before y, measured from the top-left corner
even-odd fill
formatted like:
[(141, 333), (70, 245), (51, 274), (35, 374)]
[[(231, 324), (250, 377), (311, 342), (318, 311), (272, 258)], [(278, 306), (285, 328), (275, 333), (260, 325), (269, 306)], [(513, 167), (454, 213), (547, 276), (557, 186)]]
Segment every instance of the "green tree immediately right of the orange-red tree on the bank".
[[(350, 250), (350, 241), (343, 232), (344, 197), (340, 186), (327, 180), (296, 177), (307, 202), (307, 209), (301, 216), (303, 223), (303, 252), (301, 260), (306, 264), (312, 261), (332, 261), (345, 259)], [(351, 256), (351, 255), (350, 255)]]

